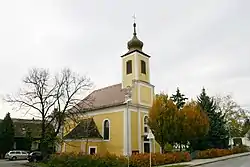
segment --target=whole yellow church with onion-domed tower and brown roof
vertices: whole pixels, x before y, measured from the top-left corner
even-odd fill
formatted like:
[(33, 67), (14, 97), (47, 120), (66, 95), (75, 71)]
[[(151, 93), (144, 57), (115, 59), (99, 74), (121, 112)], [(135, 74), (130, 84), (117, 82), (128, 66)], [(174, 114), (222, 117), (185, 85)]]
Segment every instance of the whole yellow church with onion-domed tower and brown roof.
[[(154, 86), (150, 83), (150, 56), (142, 51), (143, 42), (136, 36), (136, 24), (133, 26), (128, 52), (121, 56), (122, 82), (93, 91), (87, 97), (93, 99), (91, 107), (84, 100), (79, 103), (89, 111), (79, 124), (69, 120), (65, 124), (62, 152), (87, 150), (91, 154), (127, 155), (149, 152), (150, 148), (152, 152), (161, 151), (157, 142), (151, 143), (147, 139), (147, 119), (154, 99)], [(128, 99), (131, 101), (127, 105)]]

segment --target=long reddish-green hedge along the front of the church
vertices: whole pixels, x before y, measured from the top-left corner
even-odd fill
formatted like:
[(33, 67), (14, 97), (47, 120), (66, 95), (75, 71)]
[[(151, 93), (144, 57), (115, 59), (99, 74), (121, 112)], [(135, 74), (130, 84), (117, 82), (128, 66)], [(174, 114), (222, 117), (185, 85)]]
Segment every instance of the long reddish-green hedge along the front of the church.
[[(152, 165), (165, 165), (170, 163), (187, 162), (191, 160), (189, 153), (176, 152), (159, 154), (152, 153)], [(131, 167), (148, 167), (150, 154), (136, 154), (130, 157)], [(127, 159), (112, 154), (81, 155), (62, 154), (54, 155), (47, 163), (48, 167), (125, 167)]]

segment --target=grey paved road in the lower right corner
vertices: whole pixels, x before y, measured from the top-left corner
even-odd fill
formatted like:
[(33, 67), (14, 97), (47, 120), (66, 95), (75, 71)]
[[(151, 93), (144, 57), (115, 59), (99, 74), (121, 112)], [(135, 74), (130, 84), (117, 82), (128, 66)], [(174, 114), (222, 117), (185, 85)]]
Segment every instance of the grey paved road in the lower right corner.
[(212, 164), (201, 165), (199, 167), (250, 167), (250, 156), (233, 158)]

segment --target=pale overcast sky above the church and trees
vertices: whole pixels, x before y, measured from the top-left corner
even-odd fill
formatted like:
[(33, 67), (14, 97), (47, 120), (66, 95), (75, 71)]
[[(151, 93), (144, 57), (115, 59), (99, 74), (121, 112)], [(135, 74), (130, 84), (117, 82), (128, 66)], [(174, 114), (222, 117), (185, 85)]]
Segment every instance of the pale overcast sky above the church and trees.
[[(248, 0), (0, 1), (0, 95), (12, 94), (33, 67), (69, 67), (101, 88), (121, 82), (121, 55), (138, 38), (151, 56), (155, 91), (179, 87), (196, 98), (232, 95), (250, 109)], [(0, 100), (0, 118), (25, 118)]]

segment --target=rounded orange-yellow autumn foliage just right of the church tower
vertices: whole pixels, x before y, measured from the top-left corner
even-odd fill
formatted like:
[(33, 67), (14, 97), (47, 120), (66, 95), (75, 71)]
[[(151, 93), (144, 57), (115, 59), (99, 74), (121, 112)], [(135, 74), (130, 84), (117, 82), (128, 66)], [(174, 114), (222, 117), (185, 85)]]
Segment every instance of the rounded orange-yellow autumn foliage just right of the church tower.
[(149, 111), (149, 126), (164, 151), (168, 143), (187, 143), (205, 136), (209, 120), (196, 102), (188, 102), (178, 110), (168, 95), (162, 93), (156, 96)]

